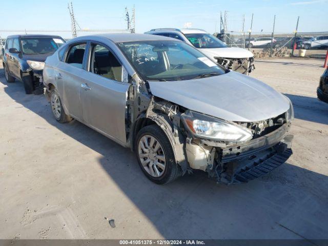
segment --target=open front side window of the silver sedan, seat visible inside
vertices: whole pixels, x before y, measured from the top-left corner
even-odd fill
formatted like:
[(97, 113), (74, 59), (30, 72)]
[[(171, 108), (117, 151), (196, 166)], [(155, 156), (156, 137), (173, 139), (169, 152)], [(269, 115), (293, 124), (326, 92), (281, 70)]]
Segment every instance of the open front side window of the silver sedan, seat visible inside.
[(108, 79), (122, 81), (122, 66), (109, 49), (94, 45), (91, 57), (91, 72)]

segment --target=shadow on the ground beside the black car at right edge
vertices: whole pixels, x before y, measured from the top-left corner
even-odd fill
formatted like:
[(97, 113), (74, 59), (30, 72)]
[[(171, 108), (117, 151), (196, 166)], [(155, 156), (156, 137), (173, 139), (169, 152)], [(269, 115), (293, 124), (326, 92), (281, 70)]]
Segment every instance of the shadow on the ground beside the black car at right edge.
[(293, 103), (295, 118), (328, 125), (328, 104), (315, 97), (284, 95)]

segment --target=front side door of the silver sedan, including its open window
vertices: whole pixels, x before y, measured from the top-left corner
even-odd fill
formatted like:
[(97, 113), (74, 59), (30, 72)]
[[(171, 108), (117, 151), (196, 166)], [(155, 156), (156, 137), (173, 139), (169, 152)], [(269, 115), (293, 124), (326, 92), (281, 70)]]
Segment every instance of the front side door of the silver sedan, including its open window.
[(118, 57), (102, 43), (91, 43), (89, 72), (81, 85), (84, 120), (114, 140), (126, 142), (126, 107), (130, 84)]

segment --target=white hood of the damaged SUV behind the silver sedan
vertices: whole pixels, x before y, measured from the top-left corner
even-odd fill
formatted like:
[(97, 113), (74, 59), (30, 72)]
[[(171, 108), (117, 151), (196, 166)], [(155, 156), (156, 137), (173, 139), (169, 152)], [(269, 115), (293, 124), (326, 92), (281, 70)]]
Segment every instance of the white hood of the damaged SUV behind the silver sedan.
[(249, 58), (254, 56), (251, 51), (237, 48), (237, 47), (198, 49), (198, 50), (211, 58), (212, 57)]

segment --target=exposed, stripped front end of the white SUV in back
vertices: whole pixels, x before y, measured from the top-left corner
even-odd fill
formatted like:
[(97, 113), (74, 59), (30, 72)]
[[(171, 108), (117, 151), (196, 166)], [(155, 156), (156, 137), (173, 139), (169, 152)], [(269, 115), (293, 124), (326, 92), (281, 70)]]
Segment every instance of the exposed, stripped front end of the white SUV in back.
[(248, 58), (226, 58), (214, 57), (219, 65), (226, 69), (233, 70), (242, 74), (249, 74), (254, 69), (254, 57)]

